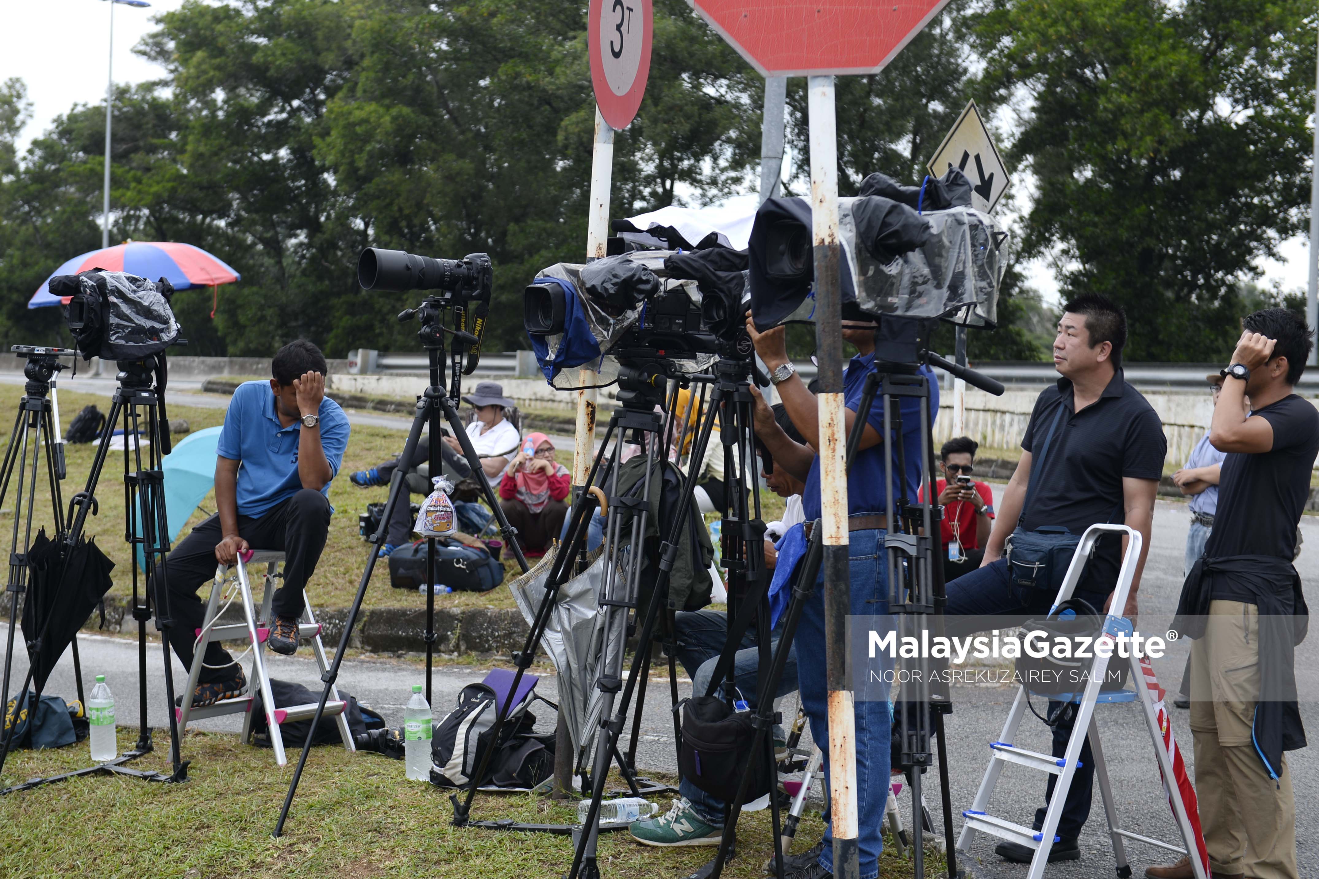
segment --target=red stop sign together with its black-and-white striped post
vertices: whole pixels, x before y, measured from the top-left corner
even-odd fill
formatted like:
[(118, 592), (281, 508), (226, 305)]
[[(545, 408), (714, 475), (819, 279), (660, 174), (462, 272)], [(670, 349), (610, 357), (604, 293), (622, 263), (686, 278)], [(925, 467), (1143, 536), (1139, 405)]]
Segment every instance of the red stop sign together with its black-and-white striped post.
[(851, 610), (847, 550), (847, 472), (843, 467), (842, 244), (838, 216), (838, 136), (834, 76), (878, 72), (947, 0), (692, 0), (696, 12), (764, 76), (807, 76), (815, 324), (819, 352), (820, 505), (824, 543), (824, 626), (828, 681), (830, 808), (834, 870), (859, 871), (856, 718), (847, 689), (843, 643)]

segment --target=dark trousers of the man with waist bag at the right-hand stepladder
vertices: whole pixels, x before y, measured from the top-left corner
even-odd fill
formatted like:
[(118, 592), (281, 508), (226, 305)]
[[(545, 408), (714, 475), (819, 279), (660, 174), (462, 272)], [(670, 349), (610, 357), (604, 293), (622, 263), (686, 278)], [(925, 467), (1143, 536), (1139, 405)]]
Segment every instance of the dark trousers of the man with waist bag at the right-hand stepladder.
[[(1021, 615), (1049, 613), (1057, 593), (1042, 589), (1024, 589), (1012, 582), (1008, 575), (1008, 561), (998, 559), (983, 568), (958, 577), (948, 584), (948, 606), (944, 610), (944, 630), (948, 637), (960, 638), (976, 631), (992, 629), (992, 623), (983, 617), (992, 615)], [(1108, 593), (1082, 592), (1075, 593), (1076, 598), (1083, 598), (1103, 613)], [(973, 614), (973, 615), (972, 615)], [(958, 617), (966, 617), (959, 621)], [(1059, 716), (1058, 713), (1062, 712)], [(1071, 738), (1075, 721), (1075, 708), (1059, 701), (1049, 702), (1046, 717), (1060, 717), (1054, 726), (1054, 756), (1063, 756), (1067, 752), (1067, 739)], [(1050, 775), (1045, 787), (1045, 804), (1054, 795), (1057, 775)], [(1080, 764), (1072, 776), (1071, 789), (1067, 791), (1067, 800), (1063, 803), (1063, 814), (1058, 821), (1057, 836), (1063, 839), (1075, 839), (1080, 829), (1089, 817), (1089, 804), (1095, 785), (1095, 756), (1089, 750), (1089, 737), (1080, 749)], [(1045, 824), (1045, 809), (1035, 810), (1035, 829)]]

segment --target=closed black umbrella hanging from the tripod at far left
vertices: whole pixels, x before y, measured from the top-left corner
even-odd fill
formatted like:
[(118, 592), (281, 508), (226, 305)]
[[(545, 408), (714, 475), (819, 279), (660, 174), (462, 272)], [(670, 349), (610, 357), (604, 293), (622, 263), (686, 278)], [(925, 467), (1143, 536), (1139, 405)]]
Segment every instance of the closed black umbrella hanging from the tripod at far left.
[(38, 693), (45, 689), (46, 679), (74, 635), (109, 592), (113, 568), (115, 563), (100, 551), (95, 538), (79, 539), (70, 547), (62, 540), (51, 542), (42, 530), (32, 542), (22, 634), (29, 644), (41, 638), (41, 648), (29, 651), (33, 687)]

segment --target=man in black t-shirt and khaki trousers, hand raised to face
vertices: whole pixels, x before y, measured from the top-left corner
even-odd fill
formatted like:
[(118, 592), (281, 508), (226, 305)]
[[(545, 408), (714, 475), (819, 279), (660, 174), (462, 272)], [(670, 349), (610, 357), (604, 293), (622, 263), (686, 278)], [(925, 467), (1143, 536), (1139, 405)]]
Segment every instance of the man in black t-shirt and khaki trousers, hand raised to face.
[[(1195, 639), (1191, 733), (1210, 867), (1216, 876), (1297, 879), (1283, 752), (1306, 745), (1293, 663), (1307, 610), (1291, 560), (1319, 455), (1319, 411), (1293, 387), (1312, 341), (1304, 320), (1282, 308), (1257, 311), (1244, 326), (1210, 427), (1210, 443), (1228, 453), (1213, 532), (1173, 627)], [(1242, 414), (1246, 394), (1254, 409)], [(1192, 874), (1183, 858), (1145, 875)]]

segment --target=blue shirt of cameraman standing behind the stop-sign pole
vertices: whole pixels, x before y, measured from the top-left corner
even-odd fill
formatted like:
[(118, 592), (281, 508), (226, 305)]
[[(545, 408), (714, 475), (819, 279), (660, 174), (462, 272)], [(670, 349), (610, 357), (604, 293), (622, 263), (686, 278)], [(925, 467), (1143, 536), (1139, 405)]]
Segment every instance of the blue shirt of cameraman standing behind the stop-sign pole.
[[(861, 357), (857, 354), (847, 365), (843, 373), (843, 405), (853, 412), (861, 407), (861, 387), (865, 385), (865, 376), (874, 370), (874, 354)], [(934, 418), (939, 414), (939, 382), (934, 378), (934, 370), (922, 366), (921, 373), (930, 385), (930, 427), (934, 427)], [(906, 496), (915, 499), (917, 489), (921, 484), (921, 444), (925, 436), (921, 432), (921, 405), (922, 401), (913, 397), (901, 398), (902, 410), (902, 453), (906, 456)], [(871, 406), (871, 415), (867, 419), (871, 426), (884, 435), (884, 401), (878, 395)], [(893, 449), (893, 493), (898, 497), (902, 492), (904, 474), (898, 472), (897, 449)], [(852, 464), (852, 472), (847, 478), (847, 514), (872, 515), (888, 511), (888, 494), (884, 489), (884, 443), (863, 449)], [(820, 515), (820, 459), (816, 455), (811, 461), (811, 472), (806, 477), (806, 490), (802, 492), (802, 511), (806, 521), (818, 519)]]

